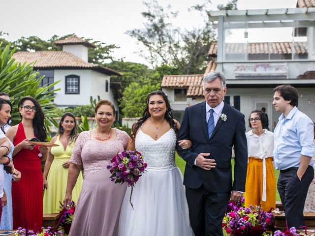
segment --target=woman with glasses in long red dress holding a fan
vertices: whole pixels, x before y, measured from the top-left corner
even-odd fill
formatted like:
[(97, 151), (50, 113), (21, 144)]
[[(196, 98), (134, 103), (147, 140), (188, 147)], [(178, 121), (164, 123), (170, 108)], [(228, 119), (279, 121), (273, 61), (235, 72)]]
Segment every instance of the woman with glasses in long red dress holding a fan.
[(34, 146), (33, 137), (46, 142), (44, 113), (33, 97), (24, 97), (19, 105), (22, 121), (12, 126), (7, 137), (14, 144), (14, 166), (22, 173), (19, 182), (12, 183), (13, 229), (40, 230), (43, 223), (43, 176), (41, 161), (47, 157), (47, 147)]

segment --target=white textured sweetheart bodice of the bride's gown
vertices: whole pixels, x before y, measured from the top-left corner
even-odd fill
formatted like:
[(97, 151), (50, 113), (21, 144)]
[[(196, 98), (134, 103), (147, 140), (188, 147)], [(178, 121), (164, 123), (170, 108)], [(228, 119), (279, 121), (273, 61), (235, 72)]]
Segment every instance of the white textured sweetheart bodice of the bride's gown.
[(173, 129), (163, 134), (158, 140), (152, 139), (140, 129), (136, 135), (135, 148), (144, 156), (147, 170), (170, 170), (176, 168), (176, 135)]

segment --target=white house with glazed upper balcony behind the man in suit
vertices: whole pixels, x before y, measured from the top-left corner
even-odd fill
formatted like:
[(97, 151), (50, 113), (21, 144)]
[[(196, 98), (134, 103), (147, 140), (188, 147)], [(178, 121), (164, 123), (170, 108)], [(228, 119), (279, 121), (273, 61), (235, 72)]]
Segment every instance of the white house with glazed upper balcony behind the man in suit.
[[(273, 88), (290, 84), (299, 91), (298, 108), (315, 121), (314, 1), (299, 0), (297, 8), (210, 11), (209, 20), (218, 29), (218, 42), (211, 45), (205, 74), (225, 74), (225, 102), (245, 114), (246, 121), (252, 110), (265, 107), (273, 130), (280, 116), (272, 105)], [(204, 100), (202, 78), (163, 77), (161, 87), (176, 118)]]

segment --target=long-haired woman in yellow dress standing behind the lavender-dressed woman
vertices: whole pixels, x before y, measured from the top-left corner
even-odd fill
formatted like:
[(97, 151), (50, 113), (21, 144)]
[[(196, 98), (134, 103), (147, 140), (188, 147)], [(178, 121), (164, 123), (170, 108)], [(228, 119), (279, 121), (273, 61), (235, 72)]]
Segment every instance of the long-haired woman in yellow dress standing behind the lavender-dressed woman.
[[(63, 202), (70, 165), (69, 159), (77, 136), (74, 115), (69, 112), (64, 113), (59, 123), (58, 134), (51, 140), (51, 143), (59, 146), (49, 148), (44, 168), (44, 214), (58, 212), (61, 206), (60, 202)], [(72, 201), (74, 202), (77, 202), (79, 198), (82, 182), (83, 177), (82, 173), (80, 173), (72, 190)]]

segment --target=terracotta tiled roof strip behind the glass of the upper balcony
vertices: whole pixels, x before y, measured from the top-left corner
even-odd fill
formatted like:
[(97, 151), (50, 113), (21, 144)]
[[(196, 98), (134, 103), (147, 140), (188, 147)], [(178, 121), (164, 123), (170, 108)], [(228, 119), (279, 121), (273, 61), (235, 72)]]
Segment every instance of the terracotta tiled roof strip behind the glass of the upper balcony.
[[(315, 0), (314, 0), (315, 1)], [(249, 54), (291, 54), (292, 43), (291, 42), (271, 42), (271, 43), (249, 43), (248, 53)], [(294, 48), (297, 54), (307, 54), (306, 42), (295, 42)], [(212, 43), (208, 56), (217, 56), (217, 43)], [(226, 53), (229, 54), (241, 54), (246, 52), (246, 44), (244, 43), (227, 43)]]

